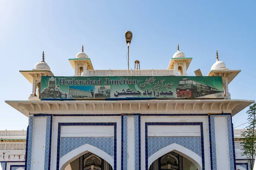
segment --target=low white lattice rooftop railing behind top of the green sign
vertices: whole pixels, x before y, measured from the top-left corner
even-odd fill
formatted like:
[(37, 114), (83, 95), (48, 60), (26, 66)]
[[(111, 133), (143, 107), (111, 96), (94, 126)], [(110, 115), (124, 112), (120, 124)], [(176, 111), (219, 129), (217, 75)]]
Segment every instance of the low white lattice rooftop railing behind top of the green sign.
[[(128, 70), (87, 70), (86, 76), (128, 76)], [(129, 76), (174, 76), (173, 70), (129, 70)]]

